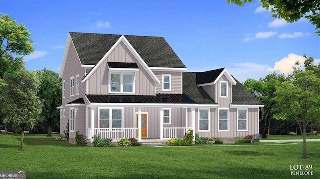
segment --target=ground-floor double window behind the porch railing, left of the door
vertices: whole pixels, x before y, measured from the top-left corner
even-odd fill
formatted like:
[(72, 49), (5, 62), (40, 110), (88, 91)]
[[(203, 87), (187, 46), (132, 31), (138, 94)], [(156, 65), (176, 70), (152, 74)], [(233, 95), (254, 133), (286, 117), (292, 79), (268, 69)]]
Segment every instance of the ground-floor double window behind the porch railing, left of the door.
[(123, 108), (99, 108), (99, 128), (122, 128)]

